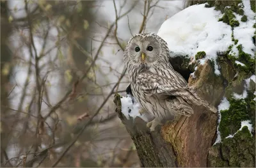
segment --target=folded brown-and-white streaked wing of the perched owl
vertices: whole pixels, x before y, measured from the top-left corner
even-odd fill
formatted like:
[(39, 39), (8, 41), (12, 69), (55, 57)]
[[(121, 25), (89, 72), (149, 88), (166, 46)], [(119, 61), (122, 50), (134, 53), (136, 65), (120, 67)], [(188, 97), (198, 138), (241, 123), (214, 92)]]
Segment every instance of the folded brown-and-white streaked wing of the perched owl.
[(174, 79), (144, 72), (136, 77), (136, 84), (147, 95), (180, 96), (189, 104), (202, 105), (202, 100), (196, 93), (184, 86), (183, 82)]

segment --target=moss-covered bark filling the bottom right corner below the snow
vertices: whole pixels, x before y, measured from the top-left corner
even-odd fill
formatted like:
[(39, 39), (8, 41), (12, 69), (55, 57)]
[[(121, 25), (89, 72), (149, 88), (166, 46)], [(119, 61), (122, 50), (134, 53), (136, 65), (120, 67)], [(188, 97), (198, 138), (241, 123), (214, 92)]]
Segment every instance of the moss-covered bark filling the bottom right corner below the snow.
[(247, 126), (211, 147), (208, 167), (255, 167), (255, 135)]

